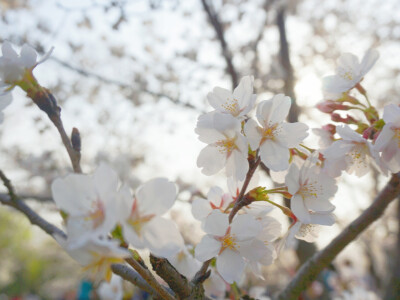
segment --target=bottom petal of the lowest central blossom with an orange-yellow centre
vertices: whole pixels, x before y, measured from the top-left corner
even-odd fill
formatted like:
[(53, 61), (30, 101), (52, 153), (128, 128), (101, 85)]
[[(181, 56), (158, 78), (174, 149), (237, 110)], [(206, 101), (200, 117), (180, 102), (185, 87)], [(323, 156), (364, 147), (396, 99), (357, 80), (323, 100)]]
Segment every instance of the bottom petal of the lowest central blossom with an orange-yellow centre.
[(228, 283), (239, 282), (245, 266), (240, 254), (230, 249), (223, 251), (217, 258), (217, 270)]

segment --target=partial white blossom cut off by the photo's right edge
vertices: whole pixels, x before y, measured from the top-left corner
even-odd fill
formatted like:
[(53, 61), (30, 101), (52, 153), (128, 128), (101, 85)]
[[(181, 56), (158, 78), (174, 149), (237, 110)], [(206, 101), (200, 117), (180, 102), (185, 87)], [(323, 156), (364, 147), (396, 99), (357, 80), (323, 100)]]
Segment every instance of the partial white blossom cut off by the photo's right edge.
[(391, 172), (400, 171), (400, 107), (390, 104), (383, 109), (385, 126), (375, 141), (375, 149), (382, 152), (382, 160)]

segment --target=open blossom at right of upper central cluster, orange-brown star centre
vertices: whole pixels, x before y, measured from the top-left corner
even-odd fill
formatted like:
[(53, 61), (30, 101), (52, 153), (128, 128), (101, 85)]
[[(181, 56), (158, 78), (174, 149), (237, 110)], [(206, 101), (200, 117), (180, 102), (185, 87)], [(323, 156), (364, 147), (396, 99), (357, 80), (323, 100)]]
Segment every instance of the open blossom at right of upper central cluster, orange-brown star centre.
[(244, 132), (252, 150), (259, 149), (261, 161), (273, 171), (289, 167), (289, 148), (297, 147), (308, 133), (308, 126), (284, 122), (291, 106), (289, 97), (279, 94), (257, 106), (257, 120), (248, 120)]

